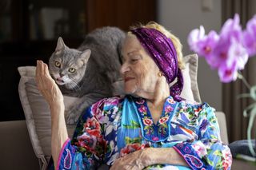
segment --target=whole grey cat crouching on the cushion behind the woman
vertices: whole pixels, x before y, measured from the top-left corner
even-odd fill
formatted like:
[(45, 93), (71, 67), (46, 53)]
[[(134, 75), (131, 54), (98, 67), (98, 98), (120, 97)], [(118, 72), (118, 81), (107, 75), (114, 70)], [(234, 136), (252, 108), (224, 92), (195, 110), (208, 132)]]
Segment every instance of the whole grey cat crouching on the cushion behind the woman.
[(50, 75), (63, 94), (79, 97), (66, 114), (67, 124), (76, 124), (89, 105), (113, 95), (113, 84), (120, 78), (121, 46), (125, 36), (116, 27), (103, 27), (87, 34), (78, 49), (70, 49), (58, 38), (49, 61)]

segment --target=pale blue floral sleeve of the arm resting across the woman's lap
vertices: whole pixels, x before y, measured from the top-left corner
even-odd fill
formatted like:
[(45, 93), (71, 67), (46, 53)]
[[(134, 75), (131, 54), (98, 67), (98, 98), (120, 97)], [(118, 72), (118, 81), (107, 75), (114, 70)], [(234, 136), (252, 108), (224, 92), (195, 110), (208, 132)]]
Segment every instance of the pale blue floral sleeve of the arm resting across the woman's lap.
[(174, 149), (192, 169), (230, 169), (232, 163), (230, 148), (220, 139), (214, 109), (203, 104), (196, 110), (200, 110), (198, 140), (176, 144)]

